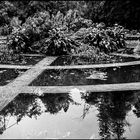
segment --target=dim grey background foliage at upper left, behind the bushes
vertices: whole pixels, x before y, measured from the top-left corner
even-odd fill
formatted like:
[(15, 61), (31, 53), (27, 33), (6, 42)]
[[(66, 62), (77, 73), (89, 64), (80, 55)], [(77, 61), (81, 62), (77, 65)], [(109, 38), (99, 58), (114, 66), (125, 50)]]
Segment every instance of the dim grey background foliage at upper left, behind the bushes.
[[(24, 23), (28, 17), (35, 13), (48, 11), (50, 15), (55, 15), (58, 11), (66, 14), (69, 9), (83, 9), (81, 5), (84, 1), (2, 1), (0, 2), (0, 25), (9, 24), (13, 16), (19, 17)], [(6, 15), (6, 16), (5, 16)]]

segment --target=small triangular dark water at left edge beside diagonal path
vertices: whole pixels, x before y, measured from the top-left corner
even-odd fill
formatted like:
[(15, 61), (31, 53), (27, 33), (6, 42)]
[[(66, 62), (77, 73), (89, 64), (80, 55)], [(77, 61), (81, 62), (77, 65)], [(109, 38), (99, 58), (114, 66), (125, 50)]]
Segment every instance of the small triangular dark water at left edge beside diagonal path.
[(24, 73), (26, 70), (19, 69), (0, 69), (0, 86), (4, 86)]

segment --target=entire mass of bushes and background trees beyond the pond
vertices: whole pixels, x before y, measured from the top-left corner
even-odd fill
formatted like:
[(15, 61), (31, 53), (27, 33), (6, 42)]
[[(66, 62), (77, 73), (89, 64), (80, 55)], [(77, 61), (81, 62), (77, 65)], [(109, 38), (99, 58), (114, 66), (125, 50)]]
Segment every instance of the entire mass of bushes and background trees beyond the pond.
[(1, 1), (0, 31), (13, 53), (108, 54), (125, 47), (127, 20), (136, 23), (130, 17), (139, 9), (130, 5), (136, 6), (130, 0)]

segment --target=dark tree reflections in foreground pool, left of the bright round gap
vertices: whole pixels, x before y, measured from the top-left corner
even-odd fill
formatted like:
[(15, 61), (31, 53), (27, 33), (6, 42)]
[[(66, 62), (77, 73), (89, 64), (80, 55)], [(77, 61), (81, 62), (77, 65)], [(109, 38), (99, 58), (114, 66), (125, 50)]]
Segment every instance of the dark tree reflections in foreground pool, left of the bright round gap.
[[(45, 106), (44, 111), (42, 111), (42, 106), (38, 102), (39, 100), (41, 100)], [(67, 112), (70, 103), (76, 104), (76, 102), (71, 99), (69, 94), (64, 93), (44, 94), (44, 96), (23, 93), (19, 94), (0, 112), (0, 134), (3, 134), (3, 132), (9, 128), (6, 125), (8, 124), (9, 118), (11, 116), (16, 118), (15, 124), (17, 124), (25, 116), (37, 118), (43, 112), (56, 114), (62, 109), (64, 112)]]

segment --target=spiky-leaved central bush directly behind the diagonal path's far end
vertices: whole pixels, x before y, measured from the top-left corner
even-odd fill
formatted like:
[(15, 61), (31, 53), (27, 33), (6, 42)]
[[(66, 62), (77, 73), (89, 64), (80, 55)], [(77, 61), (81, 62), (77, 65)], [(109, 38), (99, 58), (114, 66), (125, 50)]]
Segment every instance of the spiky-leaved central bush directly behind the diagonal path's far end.
[(54, 28), (49, 31), (48, 38), (35, 42), (31, 48), (47, 55), (67, 55), (76, 49), (76, 46), (78, 43), (71, 39), (69, 34), (60, 28)]

